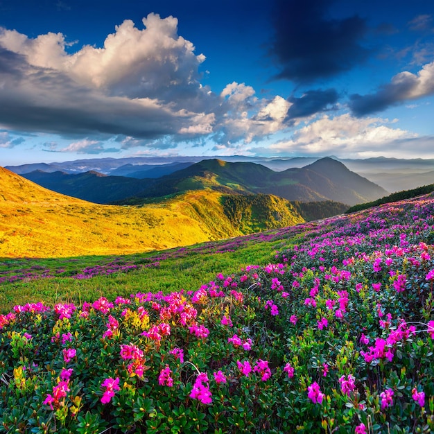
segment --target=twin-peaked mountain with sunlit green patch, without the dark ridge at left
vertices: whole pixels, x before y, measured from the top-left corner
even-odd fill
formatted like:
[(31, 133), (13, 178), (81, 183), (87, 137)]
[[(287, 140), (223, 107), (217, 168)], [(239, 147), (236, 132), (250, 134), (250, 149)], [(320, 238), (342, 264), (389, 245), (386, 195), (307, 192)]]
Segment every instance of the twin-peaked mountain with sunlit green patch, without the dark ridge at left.
[(129, 203), (189, 189), (214, 189), (226, 193), (264, 193), (301, 202), (333, 200), (347, 205), (369, 202), (388, 194), (380, 186), (349, 171), (344, 164), (323, 158), (303, 168), (275, 172), (261, 164), (203, 160), (171, 173), (138, 192)]

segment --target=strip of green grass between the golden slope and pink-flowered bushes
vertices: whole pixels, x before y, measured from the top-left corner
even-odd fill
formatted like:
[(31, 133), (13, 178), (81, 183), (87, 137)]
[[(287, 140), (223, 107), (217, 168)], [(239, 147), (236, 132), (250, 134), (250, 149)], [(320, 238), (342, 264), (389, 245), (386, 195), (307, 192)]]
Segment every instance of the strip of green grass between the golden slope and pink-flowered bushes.
[[(273, 232), (267, 232), (272, 234)], [(265, 234), (267, 234), (265, 233)], [(197, 290), (208, 281), (216, 279), (219, 272), (231, 274), (248, 265), (266, 265), (272, 260), (276, 250), (288, 246), (287, 238), (264, 241), (258, 235), (233, 238), (233, 240), (215, 243), (201, 243), (182, 250), (171, 249), (160, 252), (119, 256), (89, 256), (60, 259), (6, 259), (0, 262), (0, 275), (3, 273), (20, 275), (26, 270), (38, 268), (36, 272), (50, 270), (58, 277), (4, 281), (1, 284), (0, 313), (7, 313), (15, 304), (28, 302), (81, 303), (104, 296), (114, 298), (117, 295), (129, 297), (137, 292), (168, 293), (174, 290)], [(235, 243), (234, 252), (216, 253), (225, 248), (227, 243)], [(214, 253), (212, 253), (214, 252)], [(179, 257), (173, 257), (174, 254)], [(111, 275), (97, 275), (89, 279), (73, 279), (88, 267), (103, 266), (112, 261), (143, 266), (153, 263), (159, 257), (159, 268), (142, 267), (129, 272), (115, 272)]]

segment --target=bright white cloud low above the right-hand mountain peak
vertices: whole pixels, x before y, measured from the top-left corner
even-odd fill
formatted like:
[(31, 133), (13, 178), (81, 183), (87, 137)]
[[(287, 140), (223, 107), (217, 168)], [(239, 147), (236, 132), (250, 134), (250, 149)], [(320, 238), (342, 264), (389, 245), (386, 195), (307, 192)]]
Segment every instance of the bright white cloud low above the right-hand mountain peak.
[(406, 130), (392, 128), (388, 119), (359, 119), (349, 114), (324, 115), (293, 134), (290, 140), (270, 145), (270, 151), (300, 155), (384, 155), (388, 148), (395, 151), (394, 143), (415, 139), (416, 135)]

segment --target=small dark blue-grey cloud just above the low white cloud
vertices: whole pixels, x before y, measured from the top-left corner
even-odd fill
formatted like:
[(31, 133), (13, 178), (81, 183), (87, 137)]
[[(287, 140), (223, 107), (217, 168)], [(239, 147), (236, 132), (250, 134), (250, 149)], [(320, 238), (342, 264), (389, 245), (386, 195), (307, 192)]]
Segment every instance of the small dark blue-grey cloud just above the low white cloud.
[(289, 107), (286, 119), (295, 119), (305, 116), (311, 116), (324, 110), (329, 110), (331, 106), (336, 104), (339, 95), (335, 89), (317, 89), (309, 90), (300, 98), (290, 96), (288, 101), (292, 104)]

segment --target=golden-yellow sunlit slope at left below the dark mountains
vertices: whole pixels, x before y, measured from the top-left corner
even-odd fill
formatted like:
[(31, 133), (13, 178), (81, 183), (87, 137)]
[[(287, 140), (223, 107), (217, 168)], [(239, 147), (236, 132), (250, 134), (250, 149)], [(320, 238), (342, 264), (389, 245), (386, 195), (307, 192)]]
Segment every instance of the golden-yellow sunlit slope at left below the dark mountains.
[[(191, 191), (141, 207), (96, 205), (0, 168), (0, 257), (144, 252), (261, 229), (255, 213), (245, 216), (245, 224), (234, 225), (223, 210), (222, 196), (216, 191)], [(297, 213), (292, 220), (291, 216), (288, 208), (274, 226), (303, 221)]]

